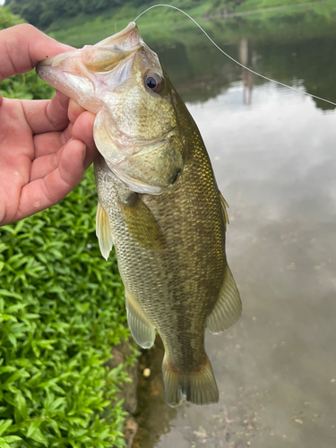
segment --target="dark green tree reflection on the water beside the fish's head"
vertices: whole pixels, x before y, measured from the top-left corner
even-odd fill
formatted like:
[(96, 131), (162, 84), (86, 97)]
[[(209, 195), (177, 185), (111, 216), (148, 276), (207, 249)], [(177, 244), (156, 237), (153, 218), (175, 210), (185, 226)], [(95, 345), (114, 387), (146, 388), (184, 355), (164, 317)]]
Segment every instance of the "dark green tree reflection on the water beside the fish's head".
[[(231, 86), (243, 81), (243, 102), (251, 103), (253, 83), (265, 80), (248, 71), (242, 71), (211, 42), (202, 46), (176, 45), (165, 47), (151, 43), (183, 99), (188, 102), (203, 102), (216, 98)], [(219, 42), (220, 45), (220, 42)], [(300, 83), (309, 93), (319, 97), (336, 99), (336, 39), (299, 39), (285, 43), (274, 39), (268, 43), (252, 43), (241, 38), (237, 45), (221, 46), (242, 64), (279, 82), (295, 85)], [(317, 108), (334, 109), (331, 104), (314, 99)]]

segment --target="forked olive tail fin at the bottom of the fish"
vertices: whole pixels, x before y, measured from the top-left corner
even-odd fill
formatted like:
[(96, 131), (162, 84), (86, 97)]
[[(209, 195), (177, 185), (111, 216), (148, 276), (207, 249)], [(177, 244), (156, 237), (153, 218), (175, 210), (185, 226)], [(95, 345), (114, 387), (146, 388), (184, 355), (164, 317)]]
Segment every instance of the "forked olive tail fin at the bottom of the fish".
[(180, 403), (181, 394), (185, 395), (186, 401), (194, 404), (211, 404), (219, 401), (219, 392), (208, 357), (201, 370), (183, 373), (169, 366), (168, 357), (165, 355), (162, 374), (165, 398), (171, 407)]

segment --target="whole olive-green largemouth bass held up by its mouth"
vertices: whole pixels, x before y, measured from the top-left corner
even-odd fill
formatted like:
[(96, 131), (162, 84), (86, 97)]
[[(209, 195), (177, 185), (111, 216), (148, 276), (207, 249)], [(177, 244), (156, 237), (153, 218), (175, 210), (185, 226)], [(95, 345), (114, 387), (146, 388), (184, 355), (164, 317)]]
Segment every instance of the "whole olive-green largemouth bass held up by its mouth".
[(205, 329), (227, 330), (242, 303), (225, 251), (228, 204), (193, 117), (134, 22), (36, 70), (96, 114), (99, 247), (108, 259), (115, 246), (134, 340), (163, 341), (168, 405), (218, 402)]

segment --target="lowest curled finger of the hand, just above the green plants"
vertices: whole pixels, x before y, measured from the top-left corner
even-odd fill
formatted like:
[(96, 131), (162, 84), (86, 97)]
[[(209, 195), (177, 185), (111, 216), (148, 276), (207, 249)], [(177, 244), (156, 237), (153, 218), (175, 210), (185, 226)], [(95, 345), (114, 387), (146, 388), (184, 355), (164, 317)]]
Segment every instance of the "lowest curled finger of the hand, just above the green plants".
[(38, 211), (47, 209), (69, 194), (84, 173), (86, 147), (83, 142), (73, 140), (65, 145), (59, 159), (58, 168), (44, 178), (39, 178), (23, 186), (17, 215), (14, 220), (22, 220)]

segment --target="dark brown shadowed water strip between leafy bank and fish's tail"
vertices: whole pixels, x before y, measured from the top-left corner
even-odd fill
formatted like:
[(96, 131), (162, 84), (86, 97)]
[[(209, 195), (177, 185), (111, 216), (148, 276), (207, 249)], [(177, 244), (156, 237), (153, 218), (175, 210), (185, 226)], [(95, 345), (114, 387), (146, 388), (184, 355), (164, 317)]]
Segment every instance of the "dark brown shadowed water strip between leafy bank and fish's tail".
[[(177, 410), (170, 408), (164, 398), (161, 374), (163, 354), (163, 344), (158, 336), (155, 347), (144, 350), (139, 359), (138, 409), (134, 414), (139, 427), (133, 448), (153, 447), (160, 435), (170, 431), (171, 421), (177, 414)], [(147, 378), (142, 375), (145, 368), (151, 369), (151, 375)]]

